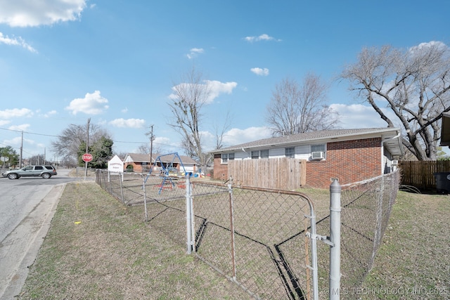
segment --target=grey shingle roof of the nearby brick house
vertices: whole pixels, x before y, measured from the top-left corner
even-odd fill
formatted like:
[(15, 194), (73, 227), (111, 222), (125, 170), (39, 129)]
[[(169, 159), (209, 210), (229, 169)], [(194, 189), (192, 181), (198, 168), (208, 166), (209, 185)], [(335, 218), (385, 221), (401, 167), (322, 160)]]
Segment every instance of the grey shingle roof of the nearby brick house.
[(364, 129), (330, 129), (322, 131), (311, 131), (307, 133), (293, 134), (290, 136), (277, 136), (274, 138), (263, 138), (262, 140), (252, 141), (248, 143), (243, 143), (239, 145), (233, 145), (226, 148), (221, 148), (219, 150), (211, 151), (210, 153), (222, 153), (231, 152), (233, 150), (240, 150), (242, 148), (262, 148), (290, 145), (302, 142), (311, 142), (317, 140), (324, 140), (328, 138), (347, 138), (352, 136), (364, 136), (371, 134), (382, 134), (382, 133), (396, 133), (399, 132), (398, 128), (364, 128)]

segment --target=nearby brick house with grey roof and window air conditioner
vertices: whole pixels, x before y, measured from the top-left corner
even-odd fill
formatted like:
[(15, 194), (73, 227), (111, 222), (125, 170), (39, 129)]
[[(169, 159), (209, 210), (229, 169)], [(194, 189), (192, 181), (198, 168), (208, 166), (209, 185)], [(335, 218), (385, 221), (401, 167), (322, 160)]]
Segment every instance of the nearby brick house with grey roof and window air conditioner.
[(228, 178), (230, 160), (291, 157), (306, 161), (306, 186), (328, 188), (332, 178), (341, 185), (362, 181), (396, 169), (403, 155), (400, 133), (398, 128), (333, 129), (233, 145), (210, 152), (213, 177)]

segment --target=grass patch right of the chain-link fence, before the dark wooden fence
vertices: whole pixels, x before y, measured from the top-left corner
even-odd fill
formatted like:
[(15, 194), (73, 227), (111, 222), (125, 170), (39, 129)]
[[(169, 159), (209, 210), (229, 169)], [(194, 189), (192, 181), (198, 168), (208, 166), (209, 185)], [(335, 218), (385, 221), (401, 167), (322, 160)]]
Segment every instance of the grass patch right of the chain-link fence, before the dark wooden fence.
[(450, 197), (399, 192), (361, 299), (450, 299)]

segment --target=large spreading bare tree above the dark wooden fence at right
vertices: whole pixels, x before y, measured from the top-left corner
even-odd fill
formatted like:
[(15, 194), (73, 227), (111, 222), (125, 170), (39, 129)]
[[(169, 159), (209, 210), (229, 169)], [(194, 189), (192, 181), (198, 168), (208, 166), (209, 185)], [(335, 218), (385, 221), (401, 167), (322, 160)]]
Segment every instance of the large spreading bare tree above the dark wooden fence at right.
[(350, 90), (369, 103), (388, 127), (405, 129), (403, 145), (417, 159), (435, 160), (442, 112), (450, 110), (449, 54), (449, 48), (439, 42), (406, 51), (392, 46), (364, 48), (341, 77), (350, 81)]

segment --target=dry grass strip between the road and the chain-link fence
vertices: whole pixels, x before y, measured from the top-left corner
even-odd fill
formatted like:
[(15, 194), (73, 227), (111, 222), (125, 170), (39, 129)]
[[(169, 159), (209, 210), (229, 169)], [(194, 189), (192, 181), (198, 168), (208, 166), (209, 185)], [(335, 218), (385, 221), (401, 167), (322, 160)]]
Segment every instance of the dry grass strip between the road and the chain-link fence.
[(68, 183), (19, 299), (250, 299), (92, 182)]

